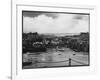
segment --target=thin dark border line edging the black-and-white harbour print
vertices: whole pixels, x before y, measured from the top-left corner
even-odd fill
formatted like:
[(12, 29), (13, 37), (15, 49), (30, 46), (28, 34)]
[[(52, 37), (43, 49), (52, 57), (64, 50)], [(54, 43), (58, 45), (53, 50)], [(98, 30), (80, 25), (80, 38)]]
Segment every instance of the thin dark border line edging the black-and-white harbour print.
[[(27, 5), (25, 5), (25, 6), (27, 6)], [(89, 26), (88, 26), (88, 30), (89, 30), (89, 33), (90, 33), (90, 14), (89, 13), (73, 13), (73, 12), (52, 12), (52, 11), (27, 11), (27, 10), (22, 10), (22, 34), (23, 34), (23, 23), (24, 23), (24, 21), (23, 21), (23, 13), (24, 12), (29, 12), (29, 13), (31, 13), (31, 12), (40, 12), (40, 13), (56, 13), (56, 14), (75, 14), (75, 15), (88, 15), (88, 24), (89, 24)], [(22, 37), (23, 37), (23, 35), (22, 35)], [(89, 46), (90, 46), (90, 34), (89, 34)], [(23, 47), (23, 45), (22, 45), (22, 47)], [(23, 60), (23, 56), (22, 56), (22, 60)], [(80, 63), (82, 63), (82, 62), (80, 62)], [(84, 63), (83, 63), (84, 64)], [(90, 66), (90, 51), (89, 51), (89, 53), (88, 53), (88, 64), (84, 64), (84, 65), (71, 65), (71, 66), (51, 66), (51, 67), (45, 67), (45, 68), (58, 68), (58, 67), (81, 67), (81, 66)], [(42, 68), (44, 68), (44, 67), (42, 67)], [(22, 69), (23, 69), (23, 65), (22, 65)], [(31, 68), (26, 68), (26, 69), (31, 69)], [(33, 69), (37, 69), (37, 68), (33, 68)], [(39, 69), (39, 68), (38, 68)]]

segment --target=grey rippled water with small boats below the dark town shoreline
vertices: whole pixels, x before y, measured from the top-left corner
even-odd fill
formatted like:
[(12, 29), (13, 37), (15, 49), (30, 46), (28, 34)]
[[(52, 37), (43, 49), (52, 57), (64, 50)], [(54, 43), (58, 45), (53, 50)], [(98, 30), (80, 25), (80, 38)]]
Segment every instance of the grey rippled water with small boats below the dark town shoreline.
[[(23, 54), (23, 62), (32, 62), (32, 65), (24, 66), (24, 68), (68, 66), (69, 58), (88, 64), (88, 55), (84, 55), (84, 53), (82, 52), (74, 52), (68, 48), (64, 49), (64, 51), (56, 51), (55, 49), (49, 49), (47, 50), (47, 52)], [(71, 62), (71, 64), (82, 65), (73, 61)]]

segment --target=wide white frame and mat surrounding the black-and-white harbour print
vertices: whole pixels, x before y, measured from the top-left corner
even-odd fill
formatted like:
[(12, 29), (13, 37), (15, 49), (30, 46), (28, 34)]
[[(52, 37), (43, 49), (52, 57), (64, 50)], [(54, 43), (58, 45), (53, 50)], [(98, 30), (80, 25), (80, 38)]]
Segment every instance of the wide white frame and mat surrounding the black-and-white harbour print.
[[(95, 22), (93, 22), (93, 21), (95, 21), (95, 9), (92, 7), (92, 8), (84, 8), (84, 7), (82, 7), (82, 8), (80, 8), (80, 7), (63, 7), (63, 6), (53, 6), (53, 5), (51, 5), (50, 4), (50, 6), (46, 6), (46, 5), (36, 5), (36, 4), (16, 4), (16, 3), (13, 3), (12, 4), (12, 7), (13, 7), (13, 9), (12, 9), (12, 54), (11, 54), (11, 57), (12, 57), (12, 59), (11, 59), (11, 76), (12, 76), (12, 80), (14, 80), (15, 78), (21, 78), (21, 79), (23, 79), (23, 77), (26, 77), (25, 75), (26, 74), (24, 74), (23, 75), (23, 73), (29, 73), (29, 74), (32, 74), (32, 69), (30, 69), (30, 70), (32, 70), (32, 71), (28, 71), (28, 70), (24, 70), (24, 71), (22, 71), (22, 68), (20, 68), (19, 66), (21, 66), (21, 65), (19, 65), (19, 62), (20, 62), (20, 59), (18, 59), (18, 57), (19, 57), (19, 53), (18, 53), (18, 47), (19, 47), (19, 44), (18, 44), (18, 41), (20, 40), (19, 39), (19, 37), (18, 36), (20, 36), (20, 37), (22, 37), (18, 32), (19, 32), (19, 23), (20, 23), (20, 19), (19, 19), (19, 16), (21, 16), (21, 15), (19, 15), (19, 12), (20, 11), (22, 11), (22, 10), (19, 10), (20, 8), (19, 8), (19, 6), (20, 6), (20, 8), (21, 8), (21, 6), (23, 7), (23, 6), (27, 6), (27, 7), (32, 7), (32, 9), (33, 9), (33, 7), (38, 7), (38, 9), (40, 8), (40, 7), (43, 7), (43, 8), (60, 8), (60, 9), (64, 9), (64, 10), (66, 10), (66, 9), (75, 9), (75, 10), (86, 10), (86, 11), (89, 11), (89, 14), (90, 14), (90, 26), (89, 26), (89, 28), (92, 26), (92, 28), (94, 29), (92, 29), (92, 30), (90, 30), (90, 39), (91, 39), (91, 35), (93, 35), (93, 37), (92, 37), (92, 39), (94, 39), (94, 35), (95, 34), (93, 34), (93, 31), (95, 32), (95, 28), (94, 28), (94, 26), (95, 26)], [(14, 10), (15, 9), (15, 10)], [(31, 9), (31, 10), (32, 10)], [(43, 10), (42, 10), (43, 11)], [(50, 11), (50, 10), (47, 10), (47, 11)], [(54, 10), (55, 11), (55, 10)], [(60, 11), (59, 11), (60, 12)], [(22, 13), (21, 13), (22, 14)], [(94, 19), (94, 20), (93, 20)], [(22, 22), (22, 21), (21, 21)], [(93, 41), (91, 41), (90, 40), (90, 43), (93, 43)], [(95, 46), (95, 43), (94, 44), (92, 44), (92, 45), (94, 45)], [(20, 46), (20, 48), (21, 48), (22, 46)], [(90, 49), (91, 49), (92, 47), (91, 47), (91, 45), (90, 45)], [(92, 48), (93, 49), (93, 48)], [(95, 51), (95, 49), (93, 49), (92, 50), (93, 52)], [(91, 52), (91, 51), (90, 51)], [(76, 68), (74, 68), (74, 67), (69, 67), (70, 68), (70, 70), (68, 70), (67, 68), (54, 68), (55, 69), (55, 72), (53, 73), (54, 75), (56, 75), (55, 73), (58, 73), (58, 72), (60, 72), (61, 70), (62, 71), (64, 71), (65, 69), (68, 71), (68, 72), (62, 72), (61, 71), (61, 73), (67, 73), (68, 75), (70, 74), (70, 75), (72, 75), (73, 73), (91, 73), (91, 72), (95, 72), (96, 70), (96, 66), (95, 66), (95, 64), (92, 64), (93, 62), (95, 62), (95, 60), (96, 60), (96, 56), (92, 56), (92, 61), (91, 61), (91, 54), (89, 53), (89, 55), (90, 55), (90, 57), (89, 57), (89, 66), (84, 66), (84, 67), (80, 67), (80, 69), (76, 69)], [(92, 63), (91, 63), (92, 62)], [(92, 67), (91, 67), (92, 66)], [(78, 66), (79, 67), (79, 66)], [(20, 68), (20, 69), (19, 69)], [(85, 68), (86, 68), (86, 70), (88, 70), (88, 71), (84, 71), (85, 70)], [(45, 76), (45, 75), (47, 75), (46, 73), (44, 73), (44, 72), (47, 72), (48, 74), (52, 74), (52, 72), (50, 72), (49, 73), (49, 71), (51, 70), (51, 71), (53, 71), (54, 70), (53, 68), (52, 69), (49, 69), (49, 70), (46, 70), (46, 69), (38, 69), (38, 70), (34, 70), (35, 71), (35, 73), (36, 73), (36, 75), (37, 74), (39, 74), (39, 72), (41, 71), (42, 73), (43, 73), (43, 76)], [(75, 70), (76, 69), (76, 70)], [(80, 71), (81, 69), (83, 69), (82, 71)], [(71, 72), (69, 72), (69, 71), (71, 71)], [(34, 74), (35, 74), (34, 73)], [(41, 73), (40, 73), (40, 75), (42, 75)], [(59, 74), (60, 75), (60, 74)], [(32, 75), (27, 75), (29, 78), (31, 77), (31, 78), (34, 78), (34, 77), (39, 77), (39, 75), (37, 75), (37, 76), (32, 76)], [(52, 75), (53, 76), (53, 75)], [(42, 76), (40, 76), (40, 77), (42, 77)]]

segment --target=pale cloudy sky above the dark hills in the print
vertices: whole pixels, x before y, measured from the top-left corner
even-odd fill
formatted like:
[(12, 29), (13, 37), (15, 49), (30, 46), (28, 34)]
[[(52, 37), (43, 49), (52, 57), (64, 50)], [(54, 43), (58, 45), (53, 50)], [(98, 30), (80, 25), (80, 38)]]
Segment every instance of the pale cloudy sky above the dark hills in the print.
[(88, 14), (23, 12), (24, 33), (80, 33), (88, 31)]

